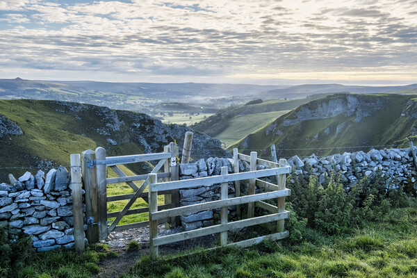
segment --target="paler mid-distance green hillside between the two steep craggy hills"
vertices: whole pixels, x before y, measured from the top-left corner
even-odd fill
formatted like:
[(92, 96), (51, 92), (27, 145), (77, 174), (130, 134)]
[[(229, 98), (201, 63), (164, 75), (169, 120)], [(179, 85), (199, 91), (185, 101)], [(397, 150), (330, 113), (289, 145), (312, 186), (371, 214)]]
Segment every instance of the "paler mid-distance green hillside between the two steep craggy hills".
[(330, 94), (316, 94), (301, 99), (266, 100), (260, 104), (241, 104), (224, 108), (215, 115), (191, 126), (208, 136), (218, 138), (226, 146), (269, 124), (293, 108)]

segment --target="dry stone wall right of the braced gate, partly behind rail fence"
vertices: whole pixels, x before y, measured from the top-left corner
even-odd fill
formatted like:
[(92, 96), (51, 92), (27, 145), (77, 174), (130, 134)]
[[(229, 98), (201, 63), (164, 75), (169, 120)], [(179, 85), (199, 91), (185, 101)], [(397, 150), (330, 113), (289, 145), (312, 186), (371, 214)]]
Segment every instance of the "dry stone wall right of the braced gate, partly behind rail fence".
[[(293, 167), (293, 174), (308, 180), (310, 174), (316, 174), (320, 183), (332, 174), (332, 171), (341, 172), (345, 189), (350, 190), (352, 184), (357, 183), (365, 176), (381, 174), (386, 177), (386, 187), (398, 188), (400, 185), (413, 186), (417, 193), (417, 172), (414, 166), (411, 149), (372, 149), (370, 152), (345, 152), (319, 158), (311, 155), (300, 159), (293, 156), (288, 159), (288, 165)], [(231, 158), (200, 159), (195, 163), (179, 165), (179, 179), (195, 179), (220, 174), (222, 166), (228, 167), (228, 172), (234, 172), (234, 163)], [(258, 170), (265, 167), (258, 165)], [(239, 172), (247, 172), (250, 165), (245, 161), (239, 161)], [(273, 181), (275, 182), (275, 180)], [(259, 188), (257, 189), (259, 190)], [(220, 184), (213, 186), (199, 186), (195, 188), (181, 189), (180, 205), (199, 204), (220, 199)], [(235, 197), (234, 183), (229, 183), (229, 198)], [(229, 219), (236, 216), (236, 208), (229, 207)], [(202, 211), (181, 216), (181, 224), (184, 230), (198, 229), (218, 222), (220, 208), (213, 211)]]

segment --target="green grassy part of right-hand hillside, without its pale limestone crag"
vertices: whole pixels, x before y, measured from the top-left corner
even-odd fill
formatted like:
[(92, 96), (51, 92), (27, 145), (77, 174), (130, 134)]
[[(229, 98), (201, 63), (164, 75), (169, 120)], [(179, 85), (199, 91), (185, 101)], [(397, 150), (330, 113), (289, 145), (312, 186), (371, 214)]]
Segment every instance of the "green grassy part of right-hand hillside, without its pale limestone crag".
[[(312, 153), (325, 155), (360, 150), (349, 148), (349, 146), (395, 145), (404, 142), (404, 138), (411, 133), (411, 126), (414, 124), (414, 121), (409, 121), (409, 117), (401, 117), (401, 114), (407, 106), (407, 101), (412, 99), (412, 96), (356, 96), (363, 103), (379, 99), (382, 101), (381, 107), (373, 111), (372, 115), (363, 117), (361, 122), (354, 122), (355, 115), (350, 117), (338, 115), (327, 119), (304, 120), (291, 126), (281, 126), (285, 119), (295, 117), (297, 111), (300, 111), (300, 108), (297, 108), (272, 123), (282, 132), (281, 135), (274, 134), (274, 132), (268, 133), (270, 126), (265, 126), (232, 147), (238, 146), (242, 150), (268, 149), (270, 145), (275, 144), (278, 149), (297, 149), (283, 150), (280, 152), (281, 156), (293, 156), (295, 154), (306, 156)], [(326, 99), (312, 101), (306, 104), (306, 106), (314, 108), (320, 104), (320, 101), (328, 101), (335, 97), (340, 96), (331, 96)], [(336, 134), (337, 126), (343, 123), (346, 124), (345, 128)], [(321, 149), (322, 147), (326, 149)], [(363, 149), (365, 150), (366, 148)]]

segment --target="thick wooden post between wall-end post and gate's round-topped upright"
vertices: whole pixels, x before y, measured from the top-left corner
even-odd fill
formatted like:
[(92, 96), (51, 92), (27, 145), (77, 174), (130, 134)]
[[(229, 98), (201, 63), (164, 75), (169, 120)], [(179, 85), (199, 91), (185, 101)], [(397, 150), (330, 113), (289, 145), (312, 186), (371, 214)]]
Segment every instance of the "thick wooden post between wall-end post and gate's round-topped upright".
[(85, 189), (85, 217), (87, 218), (88, 243), (99, 242), (99, 227), (94, 224), (99, 219), (97, 211), (97, 173), (95, 167), (88, 167), (89, 161), (95, 160), (95, 152), (91, 149), (83, 152), (81, 165), (83, 170), (83, 183)]

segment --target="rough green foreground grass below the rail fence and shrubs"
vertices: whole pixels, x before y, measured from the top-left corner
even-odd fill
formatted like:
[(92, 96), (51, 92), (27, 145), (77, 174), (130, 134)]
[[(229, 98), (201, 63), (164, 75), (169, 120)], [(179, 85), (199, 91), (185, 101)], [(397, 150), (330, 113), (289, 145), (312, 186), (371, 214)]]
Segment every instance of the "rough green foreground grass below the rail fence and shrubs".
[(122, 277), (416, 277), (417, 210), (400, 208), (395, 215), (410, 229), (390, 220), (342, 236), (306, 229), (301, 243), (196, 250), (156, 261), (142, 257)]

